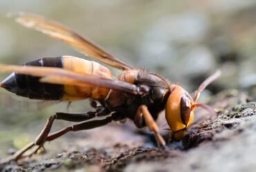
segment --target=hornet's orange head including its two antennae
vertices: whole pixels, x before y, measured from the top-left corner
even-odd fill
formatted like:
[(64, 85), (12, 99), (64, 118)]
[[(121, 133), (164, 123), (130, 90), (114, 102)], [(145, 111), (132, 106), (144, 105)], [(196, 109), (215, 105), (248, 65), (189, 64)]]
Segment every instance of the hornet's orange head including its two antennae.
[(207, 105), (196, 103), (201, 92), (207, 87), (213, 80), (220, 76), (221, 72), (217, 71), (210, 77), (205, 79), (201, 83), (199, 89), (196, 90), (194, 99), (188, 94), (185, 89), (179, 85), (171, 85), (171, 94), (167, 99), (165, 107), (165, 118), (167, 123), (174, 132), (174, 139), (181, 140), (185, 135), (186, 130), (190, 127), (194, 119), (194, 109), (196, 107), (203, 107), (210, 111), (211, 114), (215, 114), (212, 108)]

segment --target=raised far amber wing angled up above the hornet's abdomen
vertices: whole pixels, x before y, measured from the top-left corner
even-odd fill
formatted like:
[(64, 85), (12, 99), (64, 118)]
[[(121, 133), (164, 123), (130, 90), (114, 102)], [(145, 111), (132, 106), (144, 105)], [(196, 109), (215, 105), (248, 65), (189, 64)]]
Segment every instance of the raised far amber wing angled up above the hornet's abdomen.
[(102, 63), (106, 63), (107, 65), (111, 65), (119, 69), (132, 69), (132, 67), (127, 65), (125, 62), (115, 56), (112, 56), (109, 52), (103, 50), (98, 45), (95, 45), (95, 43), (88, 39), (84, 39), (79, 34), (65, 28), (59, 23), (55, 23), (54, 21), (44, 19), (44, 17), (26, 12), (19, 12), (11, 14), (10, 16), (15, 16), (16, 21), (21, 25), (38, 30), (39, 32), (47, 34), (55, 39), (60, 39), (68, 45), (80, 50), (82, 54), (95, 58)]

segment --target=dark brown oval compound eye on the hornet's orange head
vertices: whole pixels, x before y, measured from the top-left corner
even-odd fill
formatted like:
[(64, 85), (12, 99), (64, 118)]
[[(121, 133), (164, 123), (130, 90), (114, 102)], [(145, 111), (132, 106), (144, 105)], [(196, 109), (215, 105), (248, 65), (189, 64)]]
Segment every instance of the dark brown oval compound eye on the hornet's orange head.
[(181, 120), (184, 125), (188, 125), (190, 120), (191, 104), (188, 96), (181, 97)]

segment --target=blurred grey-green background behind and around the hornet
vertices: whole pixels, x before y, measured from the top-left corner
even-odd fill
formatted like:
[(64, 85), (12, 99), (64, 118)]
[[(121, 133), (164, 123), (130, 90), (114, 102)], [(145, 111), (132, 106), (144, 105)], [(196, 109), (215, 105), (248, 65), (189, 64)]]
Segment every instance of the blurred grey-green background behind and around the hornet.
[[(253, 0), (0, 0), (1, 63), (22, 65), (44, 56), (84, 57), (68, 45), (6, 17), (8, 12), (17, 11), (58, 21), (134, 67), (161, 74), (189, 92), (221, 69), (221, 78), (209, 87), (205, 97), (222, 89), (246, 90), (255, 95)], [(1, 79), (5, 76), (1, 74)], [(1, 89), (0, 110), (1, 158), (10, 147), (19, 149), (33, 140), (55, 111), (82, 112), (88, 111), (89, 106), (82, 101), (67, 109), (66, 103), (18, 98)], [(56, 123), (59, 128), (69, 125)]]

